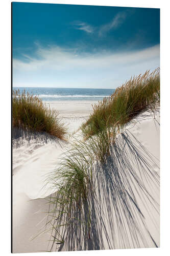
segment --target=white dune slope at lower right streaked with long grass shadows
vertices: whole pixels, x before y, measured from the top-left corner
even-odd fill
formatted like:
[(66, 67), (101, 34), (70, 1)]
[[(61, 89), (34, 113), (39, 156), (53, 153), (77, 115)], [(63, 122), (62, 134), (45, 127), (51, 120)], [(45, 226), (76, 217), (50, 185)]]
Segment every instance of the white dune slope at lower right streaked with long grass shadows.
[[(159, 246), (159, 161), (130, 133), (119, 134), (105, 164), (93, 166), (88, 198), (58, 209), (51, 196), (47, 226), (50, 251), (143, 248)], [(56, 201), (55, 201), (56, 203)], [(58, 215), (59, 211), (63, 213)], [(64, 242), (63, 242), (64, 241)]]

